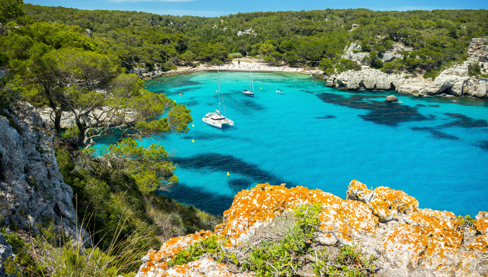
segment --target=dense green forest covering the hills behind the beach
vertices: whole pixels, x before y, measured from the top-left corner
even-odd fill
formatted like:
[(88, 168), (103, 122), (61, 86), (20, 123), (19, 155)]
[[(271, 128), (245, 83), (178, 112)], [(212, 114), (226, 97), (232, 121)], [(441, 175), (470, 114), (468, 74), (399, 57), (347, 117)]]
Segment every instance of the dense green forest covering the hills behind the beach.
[[(466, 59), (474, 37), (488, 36), (486, 10), (371, 11), (367, 9), (238, 13), (219, 18), (143, 12), (86, 11), (24, 5), (20, 24), (76, 25), (126, 68), (154, 64), (169, 69), (193, 61), (221, 63), (255, 56), (267, 62), (316, 66), (328, 73), (357, 66), (341, 59), (344, 47), (361, 45), (370, 64), (386, 72), (439, 71)], [(353, 27), (354, 26), (354, 27)], [(85, 31), (90, 30), (90, 31)], [(240, 31), (240, 32), (239, 32)], [(401, 58), (378, 57), (393, 43), (411, 47)]]

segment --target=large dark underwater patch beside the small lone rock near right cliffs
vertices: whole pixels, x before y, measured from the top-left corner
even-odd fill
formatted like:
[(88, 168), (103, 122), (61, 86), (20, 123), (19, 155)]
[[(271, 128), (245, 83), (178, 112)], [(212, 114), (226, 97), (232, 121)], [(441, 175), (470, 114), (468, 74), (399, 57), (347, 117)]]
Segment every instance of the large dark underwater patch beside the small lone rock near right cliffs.
[(402, 122), (430, 120), (420, 114), (415, 107), (385, 101), (370, 101), (368, 98), (382, 98), (383, 96), (370, 96), (355, 94), (349, 98), (333, 93), (317, 95), (326, 103), (345, 106), (354, 109), (369, 110), (365, 115), (358, 115), (363, 120), (387, 126), (398, 126)]

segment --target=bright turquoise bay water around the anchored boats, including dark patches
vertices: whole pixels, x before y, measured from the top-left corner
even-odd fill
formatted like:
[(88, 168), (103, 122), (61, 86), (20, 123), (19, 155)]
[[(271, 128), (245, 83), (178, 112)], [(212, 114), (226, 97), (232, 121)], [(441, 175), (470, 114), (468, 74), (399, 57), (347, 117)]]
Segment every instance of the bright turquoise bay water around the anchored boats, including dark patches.
[[(165, 195), (221, 215), (235, 193), (257, 183), (345, 198), (357, 179), (403, 190), (421, 208), (456, 215), (488, 210), (488, 101), (346, 91), (306, 75), (254, 73), (253, 79), (255, 98), (241, 93), (249, 73), (220, 73), (226, 115), (234, 121), (224, 129), (201, 120), (217, 107), (216, 72), (146, 81), (148, 90), (187, 105), (195, 124), (186, 134), (161, 137), (174, 151), (180, 179)], [(384, 102), (390, 94), (401, 103)]]

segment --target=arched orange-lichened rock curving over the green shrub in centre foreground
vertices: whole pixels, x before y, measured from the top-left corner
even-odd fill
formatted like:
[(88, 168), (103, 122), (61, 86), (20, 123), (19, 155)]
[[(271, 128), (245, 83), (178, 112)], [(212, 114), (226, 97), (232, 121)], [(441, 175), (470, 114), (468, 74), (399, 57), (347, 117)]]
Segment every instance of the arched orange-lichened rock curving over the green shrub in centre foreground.
[(215, 232), (228, 237), (232, 244), (239, 244), (246, 241), (251, 229), (307, 202), (321, 205), (321, 228), (332, 230), (337, 227), (341, 232), (339, 236), (346, 241), (351, 241), (356, 233), (374, 232), (378, 223), (362, 202), (344, 200), (319, 189), (302, 186), (288, 189), (284, 184), (266, 183), (237, 193), (232, 206), (223, 214), (224, 223), (218, 225)]

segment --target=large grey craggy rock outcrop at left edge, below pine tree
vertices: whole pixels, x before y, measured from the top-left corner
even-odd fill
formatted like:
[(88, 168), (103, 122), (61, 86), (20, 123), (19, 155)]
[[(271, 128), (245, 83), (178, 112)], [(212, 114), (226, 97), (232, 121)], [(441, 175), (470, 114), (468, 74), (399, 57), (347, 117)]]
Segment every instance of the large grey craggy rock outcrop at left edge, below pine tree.
[(36, 229), (54, 223), (74, 239), (88, 239), (76, 221), (73, 191), (54, 156), (54, 136), (29, 103), (0, 115), (0, 214), (5, 224)]

